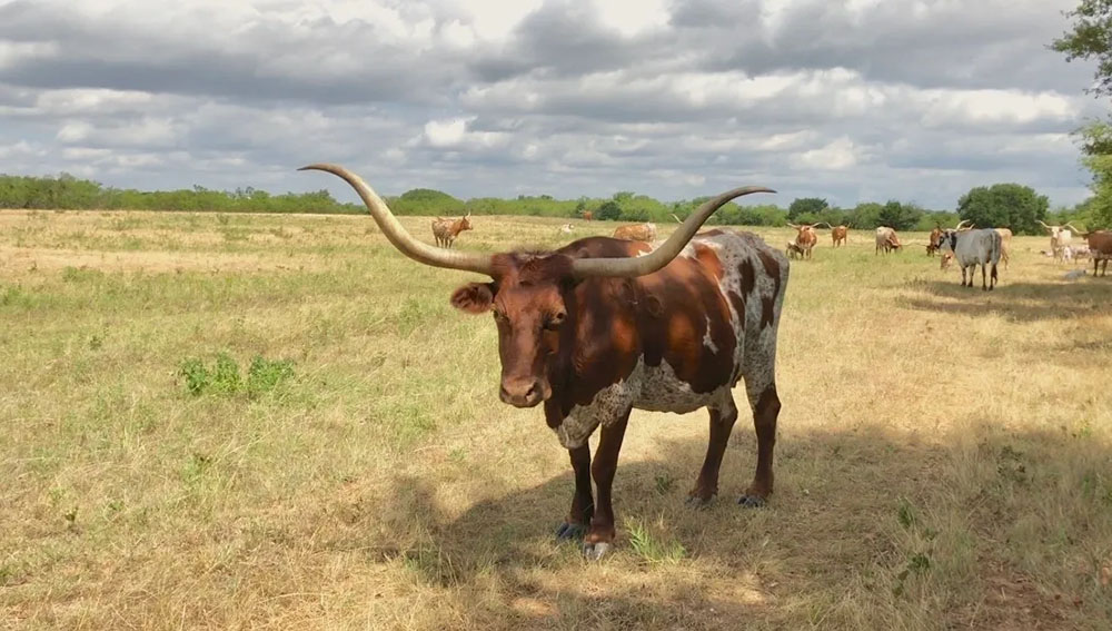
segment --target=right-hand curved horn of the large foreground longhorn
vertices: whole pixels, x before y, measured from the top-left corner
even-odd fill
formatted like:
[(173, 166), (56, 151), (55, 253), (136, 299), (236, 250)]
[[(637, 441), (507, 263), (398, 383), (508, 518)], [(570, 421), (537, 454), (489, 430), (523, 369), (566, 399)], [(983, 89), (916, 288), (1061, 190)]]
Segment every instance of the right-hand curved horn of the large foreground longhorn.
[(644, 276), (661, 269), (672, 263), (672, 259), (679, 255), (687, 241), (692, 240), (699, 227), (711, 218), (715, 210), (722, 208), (727, 201), (735, 197), (748, 195), (751, 193), (776, 193), (763, 186), (745, 186), (727, 190), (722, 195), (708, 199), (695, 209), (687, 217), (676, 231), (672, 233), (668, 240), (661, 247), (644, 256), (620, 257), (620, 258), (575, 258), (572, 260), (572, 273), (578, 278), (590, 278), (594, 276), (625, 277)]

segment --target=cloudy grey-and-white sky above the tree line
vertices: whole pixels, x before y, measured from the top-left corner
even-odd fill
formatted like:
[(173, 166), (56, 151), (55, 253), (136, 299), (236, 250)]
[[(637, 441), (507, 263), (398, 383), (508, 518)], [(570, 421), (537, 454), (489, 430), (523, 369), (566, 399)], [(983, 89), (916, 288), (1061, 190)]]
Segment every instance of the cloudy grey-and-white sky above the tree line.
[(952, 208), (1086, 196), (1078, 0), (0, 0), (0, 172)]

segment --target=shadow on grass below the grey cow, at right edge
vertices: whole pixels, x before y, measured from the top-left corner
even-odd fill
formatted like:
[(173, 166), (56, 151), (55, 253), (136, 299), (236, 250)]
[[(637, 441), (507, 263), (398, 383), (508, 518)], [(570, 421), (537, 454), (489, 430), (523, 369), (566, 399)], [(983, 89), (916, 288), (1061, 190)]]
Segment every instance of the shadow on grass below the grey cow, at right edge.
[[(1112, 278), (1085, 277), (1076, 283), (1007, 283), (992, 292), (956, 282), (933, 280), (921, 285), (927, 297), (902, 297), (900, 306), (963, 316), (1001, 315), (1012, 322), (1070, 319), (1109, 313)], [(947, 300), (940, 300), (947, 298)], [(952, 302), (960, 300), (960, 302)]]

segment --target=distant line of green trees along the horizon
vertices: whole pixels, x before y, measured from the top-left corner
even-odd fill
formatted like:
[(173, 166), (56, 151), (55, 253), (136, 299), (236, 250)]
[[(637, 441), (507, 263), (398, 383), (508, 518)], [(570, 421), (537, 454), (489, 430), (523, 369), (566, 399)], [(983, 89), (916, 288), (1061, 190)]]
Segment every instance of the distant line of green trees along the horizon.
[[(615, 193), (609, 198), (556, 199), (550, 195), (518, 196), (516, 199), (478, 197), (458, 199), (439, 190), (418, 188), (386, 201), (398, 215), (529, 215), (539, 217), (583, 217), (590, 213), (596, 220), (656, 221), (683, 220), (707, 197), (663, 203), (632, 191)], [(977, 187), (957, 200), (954, 210), (930, 210), (913, 203), (865, 201), (853, 208), (838, 208), (817, 197), (797, 198), (782, 208), (774, 204), (738, 206), (727, 204), (709, 224), (744, 226), (785, 226), (826, 221), (856, 229), (890, 226), (897, 230), (930, 230), (954, 226), (969, 219), (979, 226), (1009, 227), (1016, 234), (1042, 234), (1037, 221), (1060, 223), (1092, 217), (1092, 203), (1050, 213), (1045, 196), (1017, 184)], [(361, 214), (358, 204), (342, 204), (327, 190), (271, 195), (256, 188), (234, 191), (210, 190), (200, 186), (179, 190), (141, 191), (105, 187), (68, 174), (59, 177), (0, 176), (0, 208), (39, 209), (129, 209), (218, 213), (318, 213)]]

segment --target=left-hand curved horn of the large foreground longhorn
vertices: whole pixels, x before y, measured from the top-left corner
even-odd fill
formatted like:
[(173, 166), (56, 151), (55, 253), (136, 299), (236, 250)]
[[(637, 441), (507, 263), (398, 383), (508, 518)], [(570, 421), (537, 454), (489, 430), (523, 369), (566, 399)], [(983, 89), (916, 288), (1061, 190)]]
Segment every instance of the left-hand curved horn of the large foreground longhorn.
[(433, 267), (478, 272), (487, 276), (490, 276), (492, 272), (494, 272), (494, 262), (490, 255), (440, 249), (415, 239), (401, 226), (394, 214), (390, 213), (389, 207), (386, 206), (383, 198), (367, 186), (367, 183), (363, 181), (363, 178), (344, 167), (339, 165), (316, 164), (301, 167), (297, 170), (327, 171), (351, 185), (351, 188), (359, 194), (363, 203), (367, 205), (367, 210), (370, 210), (370, 216), (375, 218), (375, 223), (381, 228), (386, 238), (394, 244), (394, 247), (398, 248), (401, 254), (409, 258), (425, 265), (431, 265)]

